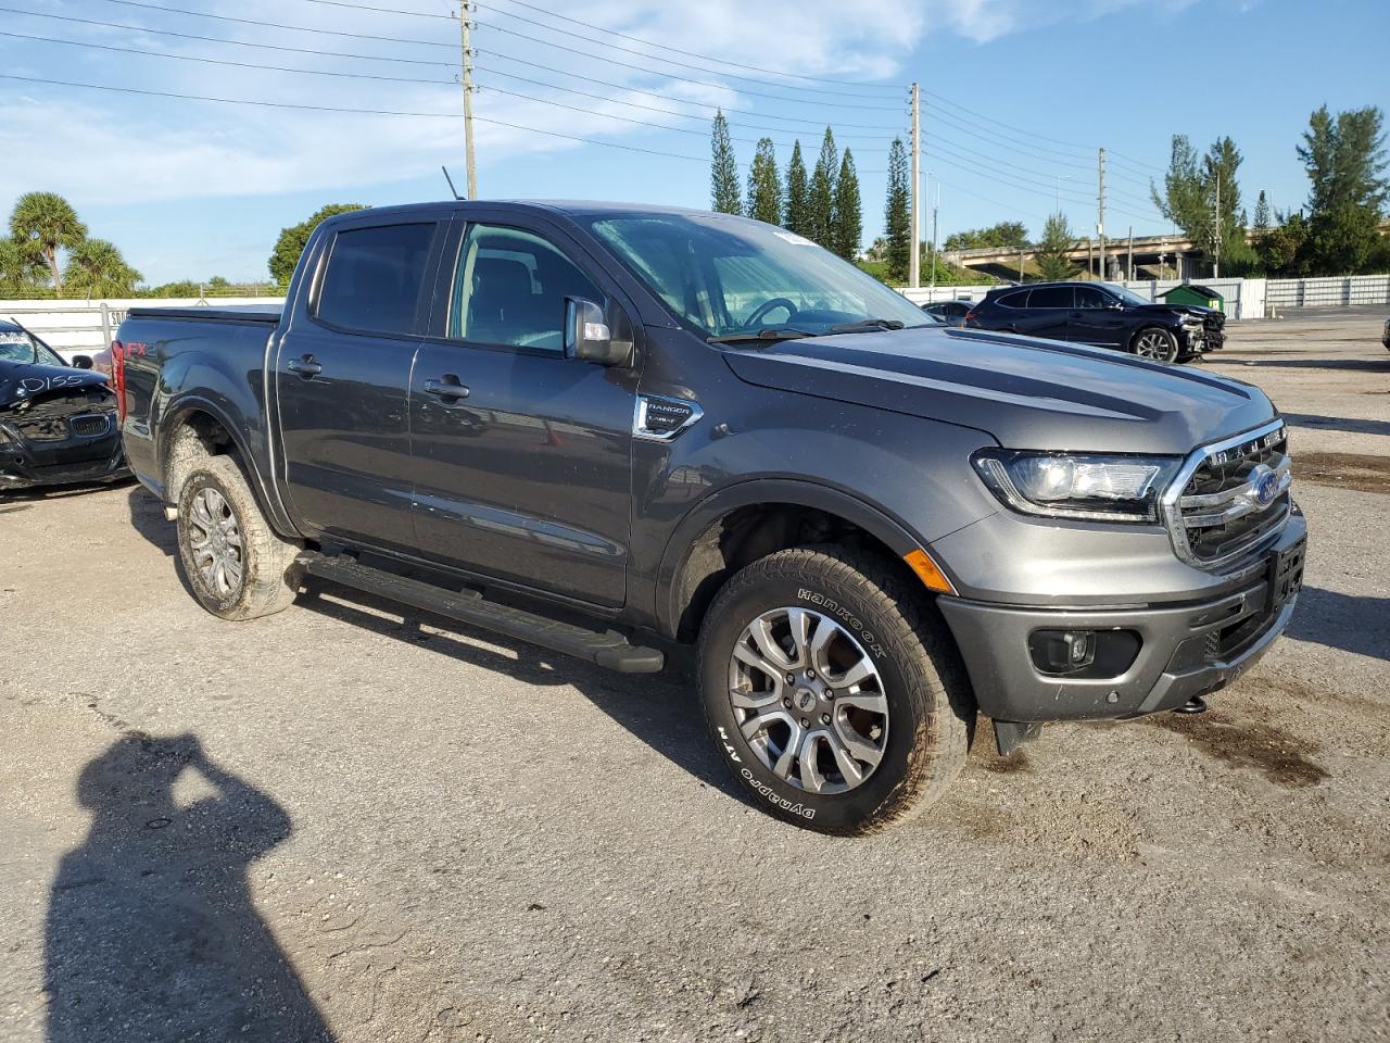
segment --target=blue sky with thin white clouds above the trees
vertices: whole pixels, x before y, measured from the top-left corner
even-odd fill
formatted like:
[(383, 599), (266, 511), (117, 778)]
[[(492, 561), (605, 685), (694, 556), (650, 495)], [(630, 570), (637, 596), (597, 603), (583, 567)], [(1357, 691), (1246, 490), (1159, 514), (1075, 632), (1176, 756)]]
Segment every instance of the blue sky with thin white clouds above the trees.
[[(441, 164), (463, 188), (450, 0), (0, 4), (0, 211), (58, 192), (152, 284), (268, 278), (282, 227), (446, 197)], [(721, 107), (744, 164), (762, 136), (810, 164), (830, 125), (866, 245), (910, 82), (942, 239), (1036, 235), (1058, 200), (1093, 232), (1101, 146), (1106, 235), (1166, 232), (1148, 182), (1175, 134), (1230, 135), (1244, 204), (1295, 209), (1309, 113), (1390, 107), (1386, 0), (475, 0), (471, 18), (480, 196), (708, 206)]]

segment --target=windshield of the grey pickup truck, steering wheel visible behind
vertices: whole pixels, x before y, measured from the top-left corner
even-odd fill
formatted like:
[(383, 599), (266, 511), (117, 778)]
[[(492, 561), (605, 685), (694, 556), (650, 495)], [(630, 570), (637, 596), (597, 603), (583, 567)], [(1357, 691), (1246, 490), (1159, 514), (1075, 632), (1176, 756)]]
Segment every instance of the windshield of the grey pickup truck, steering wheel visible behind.
[(759, 221), (630, 214), (594, 218), (589, 228), (681, 321), (708, 337), (934, 325), (853, 264)]

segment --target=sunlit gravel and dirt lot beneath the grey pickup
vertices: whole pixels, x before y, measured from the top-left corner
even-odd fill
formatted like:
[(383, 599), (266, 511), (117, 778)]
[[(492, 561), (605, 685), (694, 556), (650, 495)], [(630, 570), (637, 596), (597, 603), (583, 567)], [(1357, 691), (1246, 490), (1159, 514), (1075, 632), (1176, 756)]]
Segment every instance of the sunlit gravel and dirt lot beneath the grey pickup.
[(0, 502), (0, 1039), (1390, 1037), (1383, 314), (1208, 363), (1297, 427), (1290, 637), (869, 840), (748, 807), (678, 679), (331, 588), (221, 623), (138, 487)]

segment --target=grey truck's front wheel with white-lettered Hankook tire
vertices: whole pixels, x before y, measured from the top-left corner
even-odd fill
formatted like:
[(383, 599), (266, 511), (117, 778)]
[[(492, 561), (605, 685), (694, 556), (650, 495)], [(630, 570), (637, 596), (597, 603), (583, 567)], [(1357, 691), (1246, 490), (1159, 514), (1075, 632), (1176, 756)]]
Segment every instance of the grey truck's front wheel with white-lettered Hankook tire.
[(949, 633), (877, 556), (780, 551), (739, 572), (701, 629), (714, 741), (759, 807), (869, 833), (960, 772), (974, 704)]

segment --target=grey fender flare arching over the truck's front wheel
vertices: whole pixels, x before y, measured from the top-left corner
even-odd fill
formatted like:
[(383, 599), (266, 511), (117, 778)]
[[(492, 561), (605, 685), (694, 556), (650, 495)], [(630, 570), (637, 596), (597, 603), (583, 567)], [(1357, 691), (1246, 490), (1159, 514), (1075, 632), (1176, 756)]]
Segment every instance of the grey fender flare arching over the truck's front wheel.
[(796, 478), (751, 478), (706, 496), (691, 508), (673, 530), (656, 573), (656, 622), (667, 637), (680, 629), (682, 606), (677, 605), (677, 580), (685, 570), (695, 541), (719, 519), (753, 505), (810, 508), (851, 522), (885, 544), (899, 558), (923, 547), (923, 541), (883, 508), (833, 485)]

